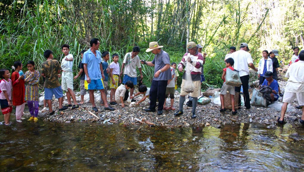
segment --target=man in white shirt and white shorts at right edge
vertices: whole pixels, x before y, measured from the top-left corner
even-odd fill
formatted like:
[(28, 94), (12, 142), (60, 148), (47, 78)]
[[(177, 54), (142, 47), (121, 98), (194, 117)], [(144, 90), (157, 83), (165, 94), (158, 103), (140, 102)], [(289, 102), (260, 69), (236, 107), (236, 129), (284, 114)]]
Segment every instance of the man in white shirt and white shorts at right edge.
[[(299, 105), (304, 105), (304, 50), (299, 53), (299, 61), (292, 63), (285, 77), (289, 78), (285, 87), (283, 96), (283, 105), (281, 108), (281, 116), (278, 123), (284, 124), (284, 115), (287, 110), (288, 103), (292, 103), (294, 99), (298, 99)], [(302, 107), (301, 124), (304, 124), (304, 107)]]

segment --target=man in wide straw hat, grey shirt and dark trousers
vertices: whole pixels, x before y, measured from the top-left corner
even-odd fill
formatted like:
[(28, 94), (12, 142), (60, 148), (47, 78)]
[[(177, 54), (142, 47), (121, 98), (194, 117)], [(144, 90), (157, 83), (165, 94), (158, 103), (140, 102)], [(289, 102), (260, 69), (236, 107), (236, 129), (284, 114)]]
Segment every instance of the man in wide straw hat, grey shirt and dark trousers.
[(150, 88), (150, 107), (144, 109), (146, 112), (155, 112), (156, 100), (158, 99), (157, 115), (163, 113), (166, 87), (169, 79), (172, 78), (170, 70), (170, 57), (167, 52), (163, 51), (157, 42), (150, 42), (146, 52), (155, 54), (152, 62), (142, 60), (142, 64), (154, 66), (154, 77)]

